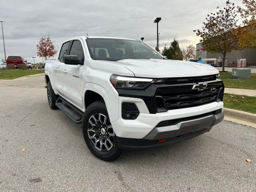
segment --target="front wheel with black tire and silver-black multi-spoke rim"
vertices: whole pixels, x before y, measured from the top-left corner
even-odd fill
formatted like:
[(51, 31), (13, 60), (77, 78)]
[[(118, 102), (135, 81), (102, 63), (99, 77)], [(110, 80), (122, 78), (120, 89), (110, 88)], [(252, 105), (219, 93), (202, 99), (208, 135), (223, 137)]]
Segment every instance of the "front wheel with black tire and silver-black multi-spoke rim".
[(116, 134), (104, 102), (94, 102), (86, 108), (82, 119), (84, 141), (90, 152), (104, 161), (114, 161), (124, 151), (118, 148)]

